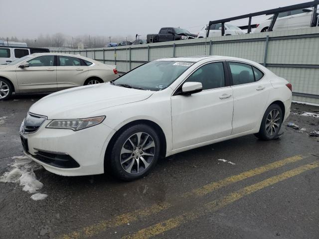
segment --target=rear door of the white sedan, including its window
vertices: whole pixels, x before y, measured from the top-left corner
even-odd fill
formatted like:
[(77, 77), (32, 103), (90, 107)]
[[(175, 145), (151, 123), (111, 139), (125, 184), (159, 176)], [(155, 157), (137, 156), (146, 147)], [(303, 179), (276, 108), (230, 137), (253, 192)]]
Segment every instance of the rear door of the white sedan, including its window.
[(234, 135), (258, 126), (272, 86), (264, 73), (252, 65), (231, 61), (227, 64), (231, 73), (234, 97)]

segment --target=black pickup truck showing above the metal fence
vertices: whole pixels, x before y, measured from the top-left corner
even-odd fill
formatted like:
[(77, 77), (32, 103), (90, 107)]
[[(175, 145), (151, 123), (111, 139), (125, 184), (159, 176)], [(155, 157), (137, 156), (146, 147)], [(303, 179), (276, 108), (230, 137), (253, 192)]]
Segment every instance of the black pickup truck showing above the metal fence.
[(148, 34), (147, 43), (193, 39), (197, 37), (189, 31), (178, 27), (162, 27), (159, 34)]

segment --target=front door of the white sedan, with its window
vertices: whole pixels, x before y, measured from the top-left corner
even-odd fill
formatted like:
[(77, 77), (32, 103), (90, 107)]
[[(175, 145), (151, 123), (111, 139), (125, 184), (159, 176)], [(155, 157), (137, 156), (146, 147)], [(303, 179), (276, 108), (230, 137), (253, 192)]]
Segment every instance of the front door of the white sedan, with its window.
[(201, 66), (185, 82), (200, 82), (203, 91), (171, 97), (173, 149), (229, 136), (233, 93), (225, 83), (223, 62)]

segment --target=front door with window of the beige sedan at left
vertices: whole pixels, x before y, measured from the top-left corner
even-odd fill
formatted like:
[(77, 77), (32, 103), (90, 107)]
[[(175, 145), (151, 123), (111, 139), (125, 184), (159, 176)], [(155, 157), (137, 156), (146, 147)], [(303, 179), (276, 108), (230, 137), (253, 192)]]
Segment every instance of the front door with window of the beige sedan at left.
[(43, 55), (26, 62), (29, 67), (16, 68), (20, 92), (56, 91), (56, 56)]

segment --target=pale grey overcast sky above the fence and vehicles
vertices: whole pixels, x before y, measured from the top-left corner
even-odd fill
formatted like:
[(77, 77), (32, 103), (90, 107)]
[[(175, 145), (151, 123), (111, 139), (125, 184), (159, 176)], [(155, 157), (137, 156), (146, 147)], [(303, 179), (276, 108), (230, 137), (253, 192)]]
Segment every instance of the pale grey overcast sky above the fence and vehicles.
[[(309, 0), (0, 0), (0, 36), (33, 38), (56, 32), (70, 36), (145, 36), (157, 33), (163, 26), (179, 26), (198, 33), (209, 20), (306, 1)], [(253, 19), (253, 23), (259, 19)]]

